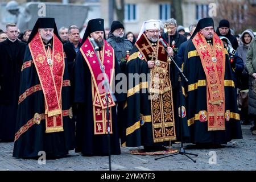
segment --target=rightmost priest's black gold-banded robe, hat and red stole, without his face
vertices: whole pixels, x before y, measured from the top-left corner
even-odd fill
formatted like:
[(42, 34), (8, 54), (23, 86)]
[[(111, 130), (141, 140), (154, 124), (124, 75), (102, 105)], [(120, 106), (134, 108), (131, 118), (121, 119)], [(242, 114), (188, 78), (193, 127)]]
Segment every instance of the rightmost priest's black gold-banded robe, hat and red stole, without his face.
[(212, 19), (205, 18), (202, 22), (199, 21), (198, 31), (195, 30), (188, 43), (184, 62), (184, 75), (188, 78), (184, 90), (190, 142), (226, 144), (242, 138), (232, 67), (217, 34), (214, 32), (213, 38), (207, 40), (199, 32), (213, 26)]

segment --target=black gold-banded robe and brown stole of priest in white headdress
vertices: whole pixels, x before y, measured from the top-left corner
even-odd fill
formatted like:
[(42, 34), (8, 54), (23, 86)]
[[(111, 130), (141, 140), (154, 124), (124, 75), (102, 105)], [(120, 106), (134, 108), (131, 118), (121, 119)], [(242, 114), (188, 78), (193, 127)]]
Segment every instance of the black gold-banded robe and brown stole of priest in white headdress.
[[(152, 69), (147, 61), (155, 61)], [(127, 113), (122, 146), (144, 146), (144, 150), (164, 150), (163, 142), (176, 140), (179, 118), (175, 118), (172, 82), (168, 74), (167, 53), (158, 41), (150, 42), (145, 34), (137, 40), (126, 64)], [(185, 110), (182, 107), (183, 134), (188, 137)], [(176, 120), (176, 121), (175, 121)], [(168, 143), (169, 144), (169, 143)], [(167, 144), (167, 145), (168, 145)]]

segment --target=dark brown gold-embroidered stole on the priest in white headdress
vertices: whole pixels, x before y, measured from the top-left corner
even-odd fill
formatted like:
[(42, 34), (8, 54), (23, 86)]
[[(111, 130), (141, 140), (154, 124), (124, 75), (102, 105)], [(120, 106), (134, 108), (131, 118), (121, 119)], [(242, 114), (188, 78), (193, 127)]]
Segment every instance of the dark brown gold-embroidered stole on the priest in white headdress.
[(156, 49), (143, 34), (135, 44), (146, 61), (155, 61), (150, 70), (151, 119), (154, 142), (175, 140), (174, 105), (172, 86), (168, 77), (167, 53), (158, 41)]

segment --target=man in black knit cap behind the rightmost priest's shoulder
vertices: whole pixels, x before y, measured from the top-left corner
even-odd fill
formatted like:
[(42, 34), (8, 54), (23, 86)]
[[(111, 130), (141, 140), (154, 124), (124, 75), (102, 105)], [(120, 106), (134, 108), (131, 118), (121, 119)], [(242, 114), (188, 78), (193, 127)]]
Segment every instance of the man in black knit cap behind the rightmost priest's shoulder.
[(226, 19), (222, 19), (218, 24), (216, 33), (218, 36), (225, 36), (226, 38), (228, 38), (232, 44), (232, 47), (236, 50), (238, 47), (237, 38), (231, 34), (229, 27), (230, 27), (229, 21)]

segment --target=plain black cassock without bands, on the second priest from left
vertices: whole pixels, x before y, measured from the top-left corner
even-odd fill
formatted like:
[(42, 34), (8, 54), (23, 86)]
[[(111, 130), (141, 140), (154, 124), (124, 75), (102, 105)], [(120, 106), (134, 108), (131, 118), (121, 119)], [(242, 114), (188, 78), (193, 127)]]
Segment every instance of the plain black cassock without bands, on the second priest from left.
[[(97, 61), (97, 60), (96, 60)], [(118, 61), (114, 61), (115, 75), (121, 73)], [(75, 98), (74, 102), (77, 106), (77, 123), (76, 123), (76, 152), (82, 152), (83, 155), (108, 155), (108, 136), (105, 134), (94, 134), (96, 126), (94, 126), (93, 111), (93, 91), (92, 91), (92, 75), (90, 69), (81, 51), (77, 53), (75, 65), (73, 69), (73, 83)], [(115, 77), (114, 75), (114, 77)], [(115, 82), (115, 85), (118, 82)], [(114, 85), (114, 86), (115, 86)], [(118, 101), (125, 100), (123, 94), (114, 94)], [(100, 113), (102, 114), (100, 110)], [(96, 109), (97, 112), (97, 109)], [(111, 107), (112, 134), (110, 134), (111, 154), (120, 154), (119, 134), (117, 128), (117, 111), (116, 106)], [(106, 121), (106, 117), (105, 117)]]

